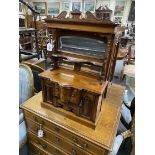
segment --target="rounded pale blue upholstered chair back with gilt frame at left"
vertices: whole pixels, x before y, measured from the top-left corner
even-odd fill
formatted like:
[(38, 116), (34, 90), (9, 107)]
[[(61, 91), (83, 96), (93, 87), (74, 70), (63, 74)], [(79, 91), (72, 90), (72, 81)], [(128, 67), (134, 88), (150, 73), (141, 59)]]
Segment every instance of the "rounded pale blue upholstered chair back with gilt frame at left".
[(33, 74), (25, 64), (19, 65), (19, 104), (34, 95)]

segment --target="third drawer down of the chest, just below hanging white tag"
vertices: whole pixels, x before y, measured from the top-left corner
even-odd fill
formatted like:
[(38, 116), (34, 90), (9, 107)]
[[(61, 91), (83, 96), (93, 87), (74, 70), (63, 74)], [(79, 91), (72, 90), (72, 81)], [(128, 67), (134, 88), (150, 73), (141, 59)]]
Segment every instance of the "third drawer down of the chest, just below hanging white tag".
[(49, 144), (42, 138), (38, 138), (32, 132), (28, 132), (29, 142), (33, 142), (41, 147), (43, 150), (52, 153), (53, 155), (67, 155), (66, 153), (62, 152), (60, 149), (56, 148), (55, 146)]

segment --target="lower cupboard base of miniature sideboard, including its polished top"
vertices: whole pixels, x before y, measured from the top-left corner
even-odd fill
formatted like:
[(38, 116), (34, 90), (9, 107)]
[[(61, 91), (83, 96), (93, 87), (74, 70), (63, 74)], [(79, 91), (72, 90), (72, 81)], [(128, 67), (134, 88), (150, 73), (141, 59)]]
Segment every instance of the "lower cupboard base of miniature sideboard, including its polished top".
[[(43, 90), (42, 106), (54, 111), (63, 108), (70, 111), (70, 116), (80, 116), (90, 120), (92, 122), (90, 125), (95, 128), (101, 112), (104, 87), (108, 82), (102, 87), (98, 80), (66, 69), (45, 71), (40, 76)], [(65, 110), (63, 113), (66, 114)]]

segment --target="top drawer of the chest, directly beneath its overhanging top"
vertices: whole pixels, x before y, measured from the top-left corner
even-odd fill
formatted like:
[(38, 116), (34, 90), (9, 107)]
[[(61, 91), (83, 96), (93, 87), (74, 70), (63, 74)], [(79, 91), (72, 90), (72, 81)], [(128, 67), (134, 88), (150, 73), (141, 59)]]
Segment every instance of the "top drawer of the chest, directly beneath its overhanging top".
[(75, 135), (53, 123), (50, 123), (43, 118), (36, 116), (30, 112), (25, 111), (25, 117), (42, 124), (43, 128), (47, 128), (48, 130), (51, 130), (52, 132), (64, 137), (73, 143), (74, 145), (81, 147), (82, 149), (90, 152), (91, 154), (97, 154), (97, 155), (102, 155), (105, 152), (105, 149), (100, 148), (99, 146), (89, 142), (88, 140), (79, 137), (78, 135)]

